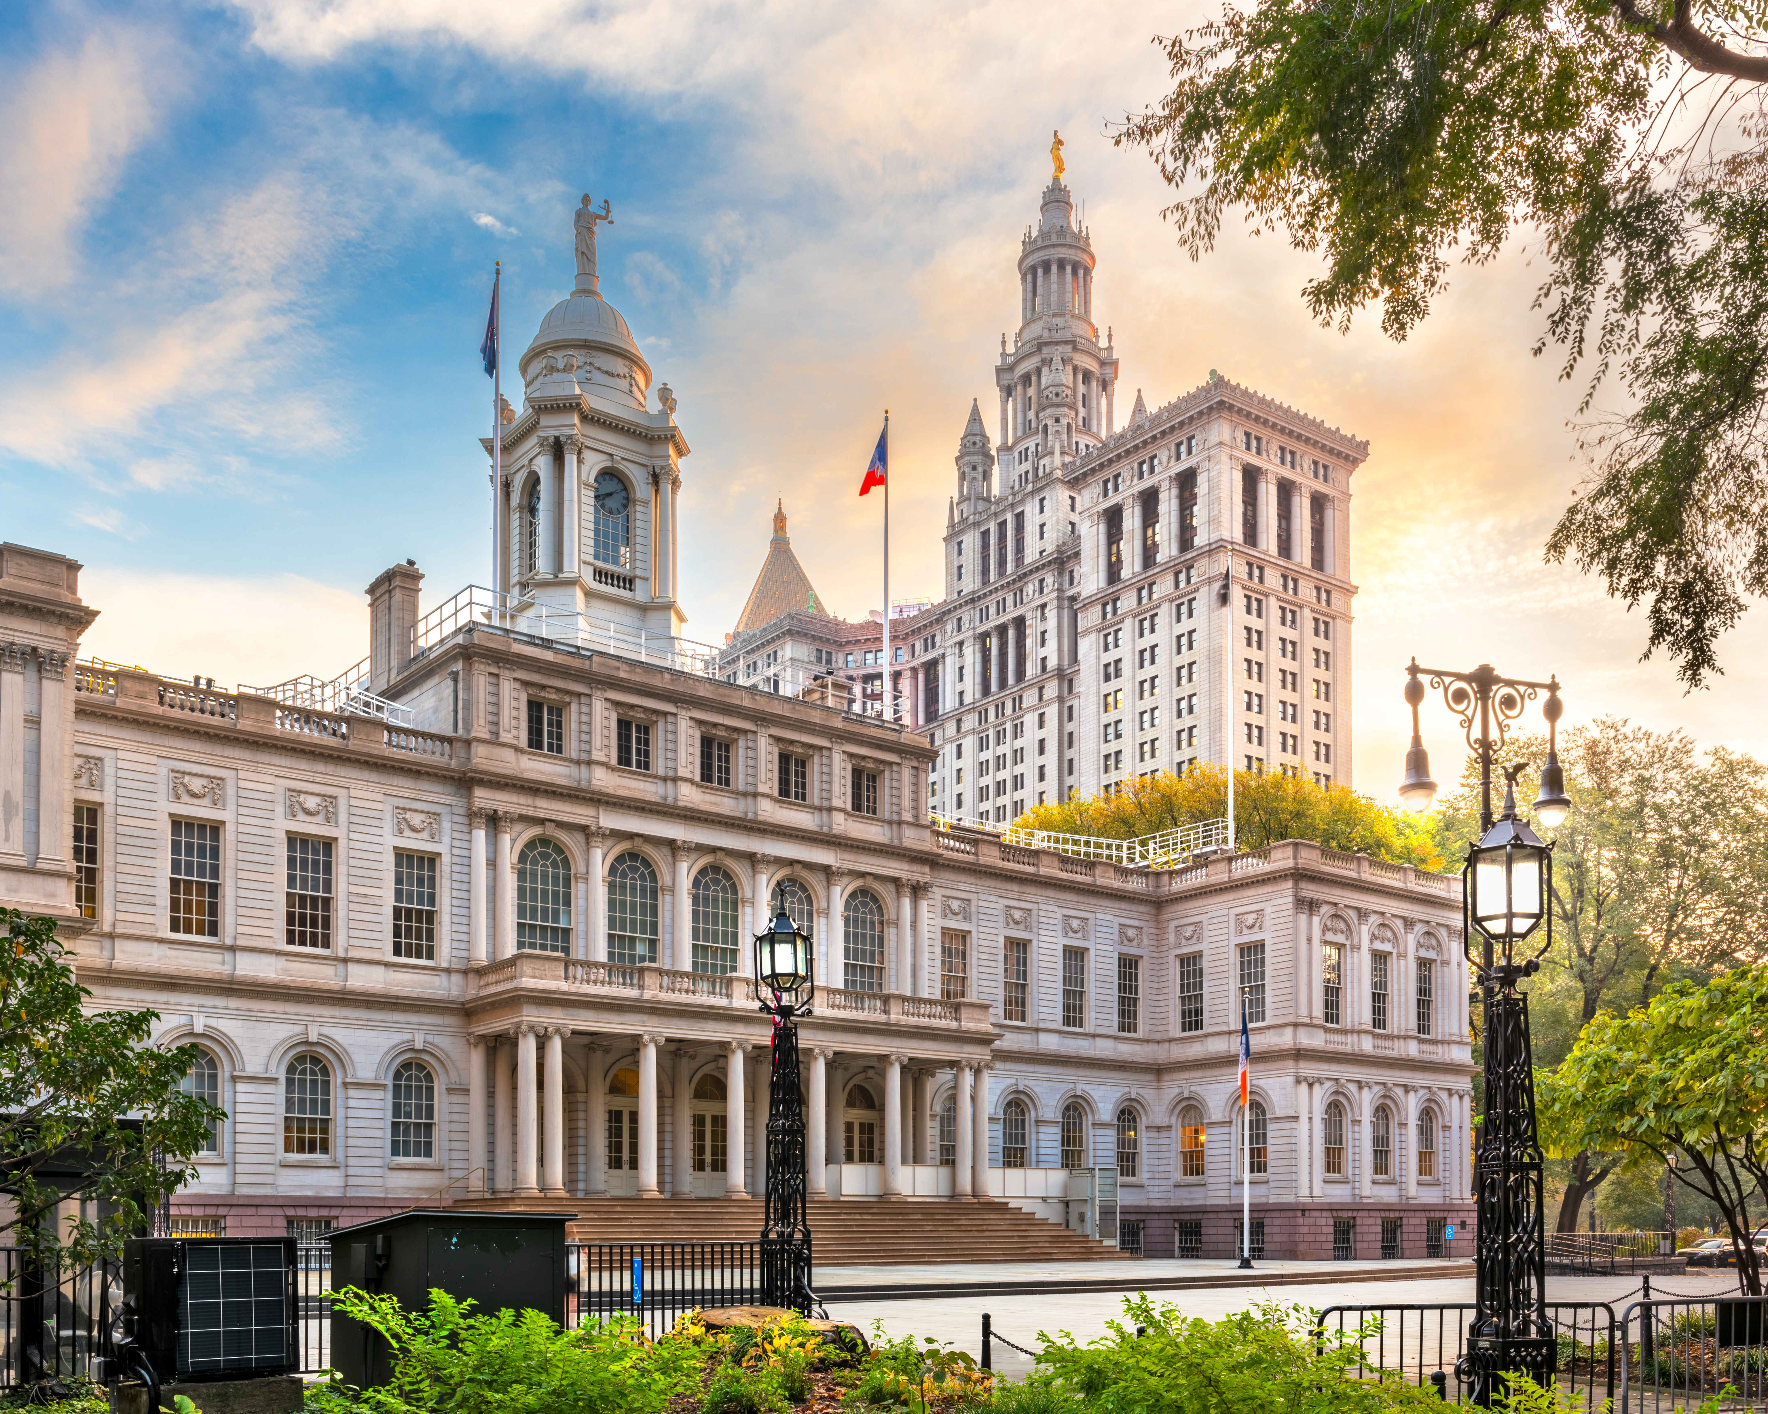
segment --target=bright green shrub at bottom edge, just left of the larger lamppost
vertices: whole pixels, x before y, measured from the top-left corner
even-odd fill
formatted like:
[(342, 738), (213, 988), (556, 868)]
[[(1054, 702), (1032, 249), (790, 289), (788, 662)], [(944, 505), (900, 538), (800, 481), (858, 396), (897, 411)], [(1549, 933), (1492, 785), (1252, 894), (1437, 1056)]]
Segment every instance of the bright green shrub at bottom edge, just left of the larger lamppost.
[[(1222, 1320), (1186, 1320), (1170, 1303), (1126, 1297), (1124, 1322), (1080, 1345), (1040, 1333), (1034, 1384), (1078, 1398), (1098, 1414), (1363, 1414), (1436, 1405), (1434, 1389), (1398, 1373), (1363, 1370), (1365, 1336), (1315, 1334), (1301, 1306), (1261, 1303)], [(1137, 1338), (1133, 1327), (1146, 1327)]]

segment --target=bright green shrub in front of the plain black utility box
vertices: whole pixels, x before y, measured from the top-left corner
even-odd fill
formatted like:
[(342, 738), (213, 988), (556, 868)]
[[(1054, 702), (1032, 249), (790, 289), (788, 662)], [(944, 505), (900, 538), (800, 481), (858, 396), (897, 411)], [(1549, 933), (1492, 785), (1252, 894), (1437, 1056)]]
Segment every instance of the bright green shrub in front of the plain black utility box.
[(320, 1396), (331, 1405), (318, 1407), (324, 1414), (661, 1414), (672, 1396), (698, 1393), (705, 1354), (691, 1329), (647, 1342), (633, 1317), (560, 1331), (541, 1311), (472, 1315), (470, 1306), (442, 1290), (431, 1290), (421, 1311), (391, 1296), (339, 1292), (334, 1310), (392, 1347), (392, 1379), (364, 1391), (334, 1382)]

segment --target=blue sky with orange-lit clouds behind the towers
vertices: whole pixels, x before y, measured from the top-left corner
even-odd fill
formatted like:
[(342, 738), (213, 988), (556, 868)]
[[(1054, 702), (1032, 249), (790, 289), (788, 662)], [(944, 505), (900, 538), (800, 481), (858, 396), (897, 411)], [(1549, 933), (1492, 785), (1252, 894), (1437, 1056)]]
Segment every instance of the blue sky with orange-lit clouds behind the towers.
[[(1540, 543), (1581, 474), (1574, 391), (1528, 355), (1524, 253), (1457, 270), (1407, 343), (1314, 327), (1269, 235), (1185, 260), (1109, 117), (1160, 94), (1179, 5), (870, 11), (467, 0), (27, 4), (0, 14), (0, 537), (87, 564), (88, 647), (223, 682), (364, 652), (362, 587), (483, 580), (477, 368), (492, 262), (520, 350), (613, 201), (603, 290), (681, 407), (688, 633), (718, 640), (774, 498), (822, 597), (934, 594), (951, 456), (1017, 313), (1013, 260), (1068, 141), (1126, 401), (1227, 376), (1374, 444), (1354, 491), (1356, 783), (1386, 795), (1413, 654), (1570, 686), (1756, 751), (1761, 622), (1683, 700), (1637, 615)], [(1478, 613), (1469, 603), (1480, 603)], [(1429, 652), (1427, 652), (1429, 650)], [(1750, 695), (1750, 696), (1745, 696)], [(1448, 732), (1437, 732), (1448, 749)], [(1443, 767), (1439, 765), (1439, 772)]]

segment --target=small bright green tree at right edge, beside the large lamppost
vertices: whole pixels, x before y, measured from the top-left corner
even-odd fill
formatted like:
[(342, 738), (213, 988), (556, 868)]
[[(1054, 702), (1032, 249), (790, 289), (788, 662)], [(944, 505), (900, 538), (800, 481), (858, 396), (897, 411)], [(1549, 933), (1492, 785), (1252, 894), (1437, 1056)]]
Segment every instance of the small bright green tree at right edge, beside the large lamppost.
[(1671, 983), (1625, 1016), (1602, 1013), (1538, 1083), (1552, 1152), (1671, 1165), (1711, 1204), (1761, 1292), (1750, 1197), (1768, 1193), (1768, 967)]

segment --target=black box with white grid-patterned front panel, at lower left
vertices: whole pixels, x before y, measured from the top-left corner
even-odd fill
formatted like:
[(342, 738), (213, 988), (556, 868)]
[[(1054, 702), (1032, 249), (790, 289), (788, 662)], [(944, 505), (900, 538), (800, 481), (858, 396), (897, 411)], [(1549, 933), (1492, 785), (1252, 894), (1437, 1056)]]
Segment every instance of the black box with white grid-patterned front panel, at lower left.
[(161, 1380), (301, 1370), (292, 1237), (131, 1237), (122, 1303), (124, 1336)]

